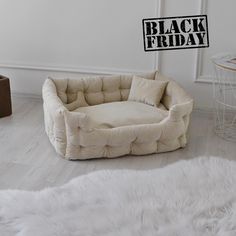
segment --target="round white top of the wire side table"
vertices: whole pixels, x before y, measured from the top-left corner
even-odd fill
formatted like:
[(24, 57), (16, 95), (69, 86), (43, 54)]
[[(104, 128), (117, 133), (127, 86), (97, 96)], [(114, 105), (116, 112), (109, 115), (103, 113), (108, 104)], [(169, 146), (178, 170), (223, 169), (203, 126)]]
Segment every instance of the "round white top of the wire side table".
[(215, 65), (222, 67), (223, 69), (232, 70), (236, 72), (236, 53), (217, 54), (213, 56), (211, 59)]

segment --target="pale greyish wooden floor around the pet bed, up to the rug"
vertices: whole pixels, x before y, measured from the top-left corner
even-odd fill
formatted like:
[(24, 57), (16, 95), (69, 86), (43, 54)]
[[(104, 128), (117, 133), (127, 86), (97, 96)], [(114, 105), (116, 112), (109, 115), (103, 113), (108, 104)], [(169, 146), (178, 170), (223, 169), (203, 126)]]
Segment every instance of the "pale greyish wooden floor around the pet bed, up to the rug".
[(210, 113), (194, 112), (186, 148), (165, 154), (116, 159), (67, 161), (58, 156), (44, 132), (42, 102), (13, 98), (13, 115), (0, 119), (0, 189), (38, 190), (58, 186), (102, 169), (155, 169), (181, 159), (219, 156), (236, 160), (236, 144), (213, 132)]

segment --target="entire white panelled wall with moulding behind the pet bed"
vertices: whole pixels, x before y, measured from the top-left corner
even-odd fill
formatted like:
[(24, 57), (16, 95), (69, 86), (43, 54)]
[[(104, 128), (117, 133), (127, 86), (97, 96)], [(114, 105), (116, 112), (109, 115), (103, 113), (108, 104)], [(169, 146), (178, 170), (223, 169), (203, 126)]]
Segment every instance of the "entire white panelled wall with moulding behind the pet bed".
[[(236, 51), (235, 0), (1, 0), (0, 74), (14, 92), (40, 95), (44, 79), (159, 68), (212, 107), (210, 57)], [(144, 52), (142, 19), (209, 18), (210, 48)]]

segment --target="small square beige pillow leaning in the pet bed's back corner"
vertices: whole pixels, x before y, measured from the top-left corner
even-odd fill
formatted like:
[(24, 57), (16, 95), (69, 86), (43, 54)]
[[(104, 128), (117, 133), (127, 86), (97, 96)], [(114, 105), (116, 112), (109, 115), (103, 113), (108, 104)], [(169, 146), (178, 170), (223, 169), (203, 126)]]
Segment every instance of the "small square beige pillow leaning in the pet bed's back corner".
[(166, 81), (147, 80), (134, 75), (128, 101), (142, 102), (156, 107), (161, 101), (166, 84)]

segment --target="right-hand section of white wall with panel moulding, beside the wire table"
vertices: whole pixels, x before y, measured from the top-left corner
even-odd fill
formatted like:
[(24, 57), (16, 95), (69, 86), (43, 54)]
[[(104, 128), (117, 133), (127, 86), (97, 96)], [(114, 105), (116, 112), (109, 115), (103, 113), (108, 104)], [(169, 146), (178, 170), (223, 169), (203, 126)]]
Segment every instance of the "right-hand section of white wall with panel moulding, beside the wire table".
[(236, 53), (235, 9), (235, 0), (165, 1), (164, 15), (208, 15), (209, 48), (166, 51), (162, 54), (162, 72), (177, 78), (193, 95), (197, 108), (212, 108), (212, 55)]

